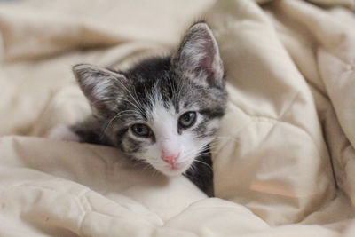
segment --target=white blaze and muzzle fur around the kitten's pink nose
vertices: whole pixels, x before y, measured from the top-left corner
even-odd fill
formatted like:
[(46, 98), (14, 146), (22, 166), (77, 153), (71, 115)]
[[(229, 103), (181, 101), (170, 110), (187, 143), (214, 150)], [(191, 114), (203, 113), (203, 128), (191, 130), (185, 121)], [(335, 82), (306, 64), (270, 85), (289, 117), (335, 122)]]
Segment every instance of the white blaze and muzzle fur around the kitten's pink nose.
[[(178, 119), (180, 115), (187, 111), (181, 111), (181, 113), (177, 114), (175, 107), (171, 103), (168, 105), (169, 108), (166, 105), (164, 107), (164, 102), (159, 92), (154, 94), (154, 99), (152, 98), (154, 107), (150, 113), (148, 125), (154, 132), (156, 142), (149, 146), (145, 153), (138, 154), (138, 157), (149, 162), (156, 170), (160, 170), (165, 175), (181, 174), (190, 167), (195, 157), (201, 153), (201, 149), (210, 140), (195, 138), (192, 131), (193, 127), (178, 134)], [(196, 119), (197, 121), (193, 126), (201, 122), (201, 116), (197, 115)], [(174, 165), (163, 161), (162, 152), (179, 154)]]

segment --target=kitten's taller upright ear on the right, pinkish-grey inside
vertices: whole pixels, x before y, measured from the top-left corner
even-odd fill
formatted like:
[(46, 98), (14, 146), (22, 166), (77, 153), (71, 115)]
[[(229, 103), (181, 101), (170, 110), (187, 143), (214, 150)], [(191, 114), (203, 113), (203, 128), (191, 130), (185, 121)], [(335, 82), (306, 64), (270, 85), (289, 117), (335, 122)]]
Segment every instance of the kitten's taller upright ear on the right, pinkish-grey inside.
[(209, 86), (224, 85), (225, 71), (217, 42), (205, 22), (198, 22), (187, 30), (172, 63), (185, 77), (204, 80)]

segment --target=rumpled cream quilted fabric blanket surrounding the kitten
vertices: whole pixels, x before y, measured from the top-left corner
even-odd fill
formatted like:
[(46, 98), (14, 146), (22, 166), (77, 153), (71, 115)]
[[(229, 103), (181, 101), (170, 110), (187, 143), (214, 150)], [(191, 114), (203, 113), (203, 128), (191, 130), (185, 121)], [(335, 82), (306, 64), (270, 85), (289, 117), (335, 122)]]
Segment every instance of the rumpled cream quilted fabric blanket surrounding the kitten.
[[(258, 2), (0, 4), (0, 235), (354, 235), (354, 4)], [(75, 63), (129, 67), (201, 17), (230, 96), (217, 198), (114, 148), (36, 138), (90, 113)]]

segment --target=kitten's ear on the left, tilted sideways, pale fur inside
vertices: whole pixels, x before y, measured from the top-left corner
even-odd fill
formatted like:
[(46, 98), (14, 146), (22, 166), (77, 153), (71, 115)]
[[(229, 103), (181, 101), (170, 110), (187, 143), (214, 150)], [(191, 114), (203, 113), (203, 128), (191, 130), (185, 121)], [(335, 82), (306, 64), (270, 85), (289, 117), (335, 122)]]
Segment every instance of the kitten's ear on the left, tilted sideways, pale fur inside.
[(113, 115), (122, 93), (122, 83), (126, 83), (126, 77), (90, 64), (75, 65), (73, 73), (83, 94), (89, 100), (94, 114)]

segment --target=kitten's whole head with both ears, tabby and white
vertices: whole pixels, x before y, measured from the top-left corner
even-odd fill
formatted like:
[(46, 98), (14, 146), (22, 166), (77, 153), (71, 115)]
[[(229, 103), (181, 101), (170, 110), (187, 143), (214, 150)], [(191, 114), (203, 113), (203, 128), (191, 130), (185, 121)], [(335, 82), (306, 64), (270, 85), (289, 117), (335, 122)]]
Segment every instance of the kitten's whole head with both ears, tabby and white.
[(73, 67), (106, 138), (166, 175), (187, 170), (213, 139), (225, 114), (225, 80), (217, 42), (194, 24), (170, 57), (126, 72)]

